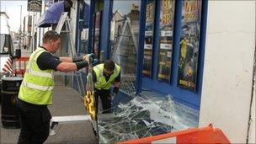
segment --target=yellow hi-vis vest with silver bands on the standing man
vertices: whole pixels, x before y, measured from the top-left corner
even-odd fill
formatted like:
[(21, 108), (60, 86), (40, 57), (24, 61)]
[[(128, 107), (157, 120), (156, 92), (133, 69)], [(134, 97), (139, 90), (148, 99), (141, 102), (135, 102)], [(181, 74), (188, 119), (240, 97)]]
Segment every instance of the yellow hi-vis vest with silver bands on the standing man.
[(54, 88), (53, 70), (40, 70), (37, 58), (45, 52), (37, 48), (30, 56), (24, 80), (19, 88), (19, 99), (31, 104), (51, 104)]

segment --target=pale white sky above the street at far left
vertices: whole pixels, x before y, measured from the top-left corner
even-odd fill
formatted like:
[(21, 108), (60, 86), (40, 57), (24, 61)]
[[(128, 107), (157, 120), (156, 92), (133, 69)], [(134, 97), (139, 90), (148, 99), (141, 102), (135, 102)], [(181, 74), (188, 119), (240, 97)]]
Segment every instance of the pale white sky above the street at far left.
[[(27, 0), (0, 0), (0, 11), (8, 14), (8, 23), (12, 31), (18, 32), (20, 27), (20, 9), (22, 6), (22, 22), (24, 16), (28, 14)], [(1, 19), (0, 19), (1, 20)]]

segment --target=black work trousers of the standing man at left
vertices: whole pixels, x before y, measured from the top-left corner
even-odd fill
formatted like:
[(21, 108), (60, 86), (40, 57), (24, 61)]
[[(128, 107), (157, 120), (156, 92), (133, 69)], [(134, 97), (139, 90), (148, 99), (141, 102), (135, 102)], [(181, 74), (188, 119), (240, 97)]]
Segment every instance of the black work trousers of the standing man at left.
[(51, 120), (47, 105), (29, 104), (19, 99), (17, 106), (20, 115), (18, 144), (43, 143), (49, 136)]

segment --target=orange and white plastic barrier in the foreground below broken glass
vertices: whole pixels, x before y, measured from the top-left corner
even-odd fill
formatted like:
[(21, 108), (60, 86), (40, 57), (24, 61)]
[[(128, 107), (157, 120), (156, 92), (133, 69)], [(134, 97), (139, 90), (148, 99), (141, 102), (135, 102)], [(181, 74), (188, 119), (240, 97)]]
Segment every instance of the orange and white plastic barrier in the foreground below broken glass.
[(131, 141), (121, 141), (117, 144), (151, 144), (151, 143), (230, 143), (225, 134), (213, 125), (204, 128), (192, 128), (184, 131), (174, 131), (167, 134), (150, 136)]

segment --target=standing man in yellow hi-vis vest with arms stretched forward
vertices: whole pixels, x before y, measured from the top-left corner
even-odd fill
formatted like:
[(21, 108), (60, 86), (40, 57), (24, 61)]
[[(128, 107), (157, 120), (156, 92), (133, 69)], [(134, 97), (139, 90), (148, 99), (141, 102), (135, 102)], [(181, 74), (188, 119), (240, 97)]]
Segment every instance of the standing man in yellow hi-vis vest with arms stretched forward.
[(18, 143), (43, 143), (49, 136), (54, 71), (72, 72), (88, 66), (88, 56), (57, 57), (52, 54), (61, 47), (61, 35), (47, 31), (43, 45), (29, 57), (17, 103), (20, 115)]

